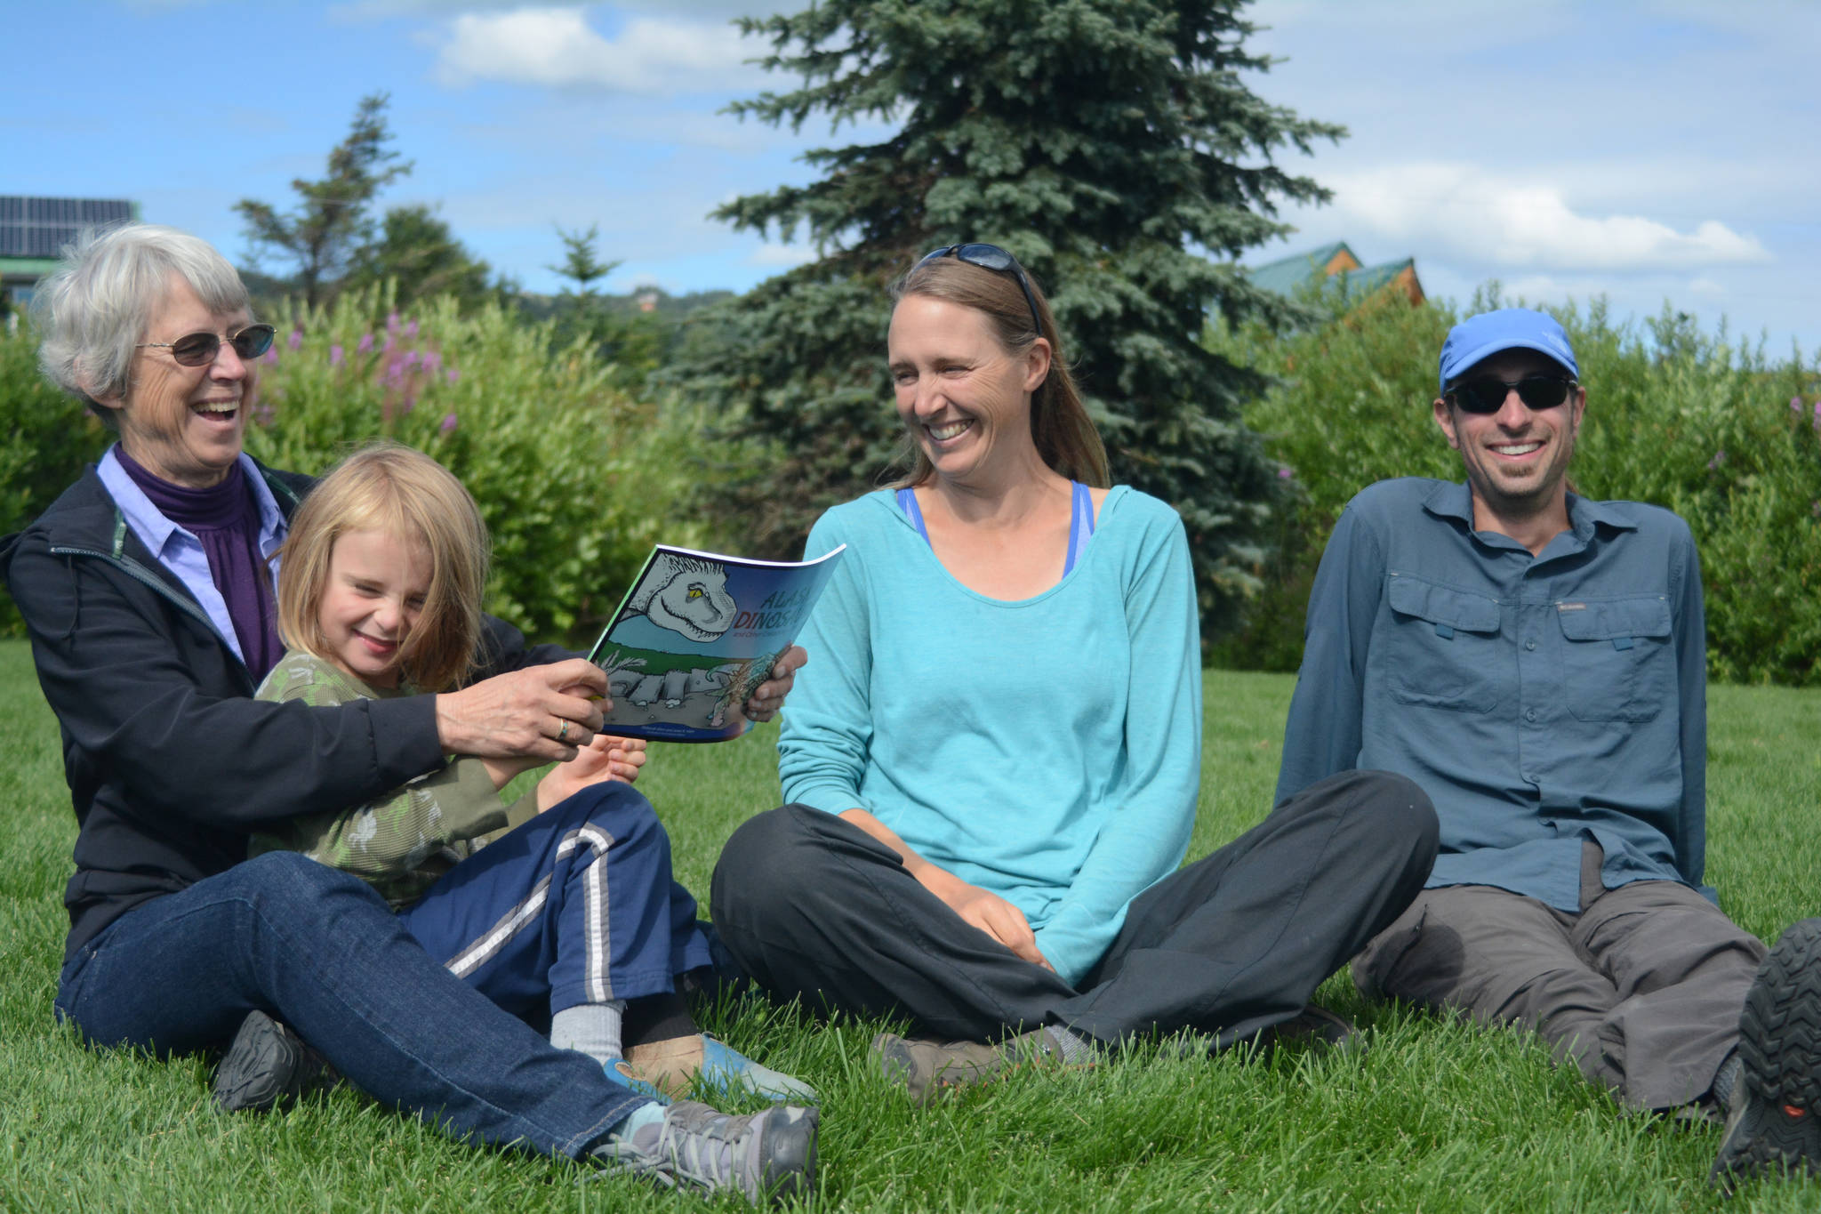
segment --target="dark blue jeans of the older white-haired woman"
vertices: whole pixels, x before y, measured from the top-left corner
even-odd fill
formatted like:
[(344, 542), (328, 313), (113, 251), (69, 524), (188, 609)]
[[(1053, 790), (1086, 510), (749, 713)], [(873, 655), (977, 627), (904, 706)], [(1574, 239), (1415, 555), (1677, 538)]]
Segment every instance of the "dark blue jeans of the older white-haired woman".
[(355, 1087), (452, 1138), (581, 1158), (648, 1103), (444, 970), (359, 877), (270, 852), (133, 908), (64, 966), (98, 1047), (180, 1054), (264, 1010)]

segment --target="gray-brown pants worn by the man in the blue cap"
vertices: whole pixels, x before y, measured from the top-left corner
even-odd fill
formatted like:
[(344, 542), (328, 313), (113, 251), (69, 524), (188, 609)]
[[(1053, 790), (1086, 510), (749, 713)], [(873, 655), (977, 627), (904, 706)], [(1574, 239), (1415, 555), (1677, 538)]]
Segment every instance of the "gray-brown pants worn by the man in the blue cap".
[(1739, 1041), (1765, 945), (1686, 885), (1601, 885), (1581, 857), (1581, 914), (1486, 885), (1424, 890), (1353, 961), (1368, 996), (1524, 1025), (1557, 1061), (1635, 1108), (1708, 1096)]

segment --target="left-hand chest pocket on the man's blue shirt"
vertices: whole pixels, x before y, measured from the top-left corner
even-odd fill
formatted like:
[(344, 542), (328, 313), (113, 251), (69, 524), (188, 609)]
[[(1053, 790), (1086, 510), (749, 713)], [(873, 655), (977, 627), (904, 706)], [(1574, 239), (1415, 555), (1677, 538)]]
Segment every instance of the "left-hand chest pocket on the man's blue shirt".
[(1499, 704), (1499, 601), (1391, 572), (1391, 635), (1373, 642), (1386, 686), (1400, 704), (1491, 712)]

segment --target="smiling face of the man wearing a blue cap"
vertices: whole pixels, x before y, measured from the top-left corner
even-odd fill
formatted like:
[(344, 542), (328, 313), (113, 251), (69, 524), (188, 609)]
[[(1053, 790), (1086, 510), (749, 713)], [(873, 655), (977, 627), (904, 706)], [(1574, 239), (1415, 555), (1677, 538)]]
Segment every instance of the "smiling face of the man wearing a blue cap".
[[(1531, 349), (1506, 349), (1477, 362), (1460, 379), (1497, 375), (1506, 382), (1526, 375), (1564, 375), (1561, 364)], [(1460, 451), (1473, 490), (1475, 526), (1504, 530), (1501, 521), (1561, 515), (1568, 521), (1562, 484), (1575, 453), (1586, 389), (1579, 384), (1550, 410), (1531, 410), (1508, 391), (1497, 413), (1468, 413), (1446, 399), (1435, 400), (1435, 424), (1448, 446)], [(1482, 517), (1484, 515), (1484, 517)]]

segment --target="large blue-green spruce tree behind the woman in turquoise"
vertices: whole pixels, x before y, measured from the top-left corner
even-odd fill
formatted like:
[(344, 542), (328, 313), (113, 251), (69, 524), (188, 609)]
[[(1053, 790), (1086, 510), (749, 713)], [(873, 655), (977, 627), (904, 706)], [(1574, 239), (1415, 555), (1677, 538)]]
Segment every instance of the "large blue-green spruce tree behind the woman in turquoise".
[(1184, 517), (1204, 628), (1256, 586), (1278, 484), (1240, 424), (1258, 379), (1202, 346), (1209, 311), (1282, 322), (1293, 306), (1235, 264), (1286, 231), (1282, 200), (1326, 200), (1277, 167), (1340, 138), (1251, 93), (1269, 60), (1240, 0), (818, 0), (741, 20), (765, 67), (803, 86), (732, 106), (799, 129), (894, 126), (810, 151), (819, 178), (736, 198), (736, 229), (807, 238), (818, 260), (705, 324), (685, 380), (781, 466), (741, 490), (747, 542), (794, 551), (816, 513), (876, 484), (901, 426), (885, 375), (885, 286), (943, 244), (1011, 249), (1043, 284), (1102, 424), (1114, 482)]

